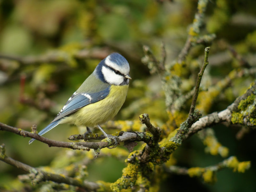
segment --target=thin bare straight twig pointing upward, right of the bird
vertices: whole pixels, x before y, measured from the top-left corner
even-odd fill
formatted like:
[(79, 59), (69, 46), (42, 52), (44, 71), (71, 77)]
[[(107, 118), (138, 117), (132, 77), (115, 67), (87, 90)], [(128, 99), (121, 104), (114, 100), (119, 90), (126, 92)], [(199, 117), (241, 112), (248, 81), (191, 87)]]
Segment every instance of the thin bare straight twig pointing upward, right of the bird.
[(209, 62), (208, 62), (209, 51), (210, 51), (210, 47), (206, 47), (204, 49), (204, 64), (203, 64), (203, 66), (202, 66), (202, 68), (201, 68), (201, 70), (200, 70), (200, 72), (198, 73), (198, 76), (197, 76), (196, 88), (195, 88), (195, 93), (193, 95), (191, 107), (190, 107), (190, 110), (189, 110), (189, 116), (191, 116), (195, 111), (196, 100), (197, 100), (197, 97), (198, 97), (198, 92), (199, 92), (199, 87), (200, 87), (200, 83), (201, 83), (201, 80), (202, 80), (202, 76), (204, 74), (204, 69), (209, 64)]

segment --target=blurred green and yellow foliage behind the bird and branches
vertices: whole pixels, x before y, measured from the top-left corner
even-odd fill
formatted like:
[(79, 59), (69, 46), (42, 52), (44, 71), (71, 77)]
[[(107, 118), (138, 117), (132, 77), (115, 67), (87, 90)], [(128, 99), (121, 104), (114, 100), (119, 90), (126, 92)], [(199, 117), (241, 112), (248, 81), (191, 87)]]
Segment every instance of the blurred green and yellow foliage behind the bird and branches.
[[(141, 61), (142, 46), (148, 45), (161, 58), (164, 42), (166, 63), (172, 63), (184, 46), (196, 7), (196, 0), (0, 0), (0, 122), (27, 131), (33, 124), (43, 129), (100, 60), (119, 52), (130, 63), (132, 81), (115, 119), (137, 120), (141, 113), (148, 113), (161, 126), (168, 119), (164, 92), (159, 77), (151, 75)], [(240, 67), (230, 46), (244, 58), (245, 65), (256, 66), (256, 1), (211, 0), (204, 22), (203, 33), (216, 34), (207, 67), (213, 82)], [(202, 59), (203, 53), (203, 45), (193, 47), (188, 62)], [(234, 80), (213, 101), (209, 113), (225, 109), (254, 79), (255, 75)], [(229, 148), (229, 155), (252, 161), (250, 170), (221, 170), (214, 184), (163, 173), (160, 191), (255, 191), (256, 132), (251, 130), (237, 140), (240, 128), (217, 125), (214, 130), (218, 140)], [(45, 137), (68, 141), (67, 137), (76, 133), (76, 127), (61, 125)], [(38, 141), (28, 145), (28, 140), (0, 132), (6, 154), (31, 166), (50, 166), (56, 154), (68, 153)], [(204, 148), (202, 141), (193, 136), (175, 151), (176, 164), (204, 167), (223, 160), (205, 153)], [(87, 179), (114, 182), (124, 167), (124, 159), (96, 159), (88, 166)], [(0, 190), (19, 191), (19, 174), (24, 172), (0, 162)]]

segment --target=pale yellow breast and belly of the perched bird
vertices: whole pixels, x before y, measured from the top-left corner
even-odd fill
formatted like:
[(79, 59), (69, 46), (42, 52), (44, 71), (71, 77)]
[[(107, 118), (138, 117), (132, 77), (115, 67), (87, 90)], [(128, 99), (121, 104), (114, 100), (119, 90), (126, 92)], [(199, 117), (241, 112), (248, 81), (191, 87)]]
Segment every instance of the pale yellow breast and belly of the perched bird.
[(129, 85), (111, 85), (109, 95), (105, 99), (79, 109), (60, 123), (94, 127), (112, 119), (124, 104), (128, 87)]

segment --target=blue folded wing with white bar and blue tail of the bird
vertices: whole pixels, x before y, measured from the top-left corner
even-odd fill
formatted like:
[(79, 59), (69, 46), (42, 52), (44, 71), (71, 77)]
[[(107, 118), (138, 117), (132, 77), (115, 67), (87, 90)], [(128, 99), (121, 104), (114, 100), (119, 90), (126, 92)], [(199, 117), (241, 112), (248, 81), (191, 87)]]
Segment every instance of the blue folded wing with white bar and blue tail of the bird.
[[(80, 108), (83, 108), (86, 105), (91, 103), (96, 103), (104, 98), (106, 98), (109, 94), (110, 86), (106, 89), (96, 92), (96, 93), (86, 93), (80, 92), (74, 94), (68, 99), (66, 105), (60, 110), (59, 114), (53, 119), (53, 121), (47, 125), (43, 130), (41, 130), (38, 135), (43, 135), (44, 133), (50, 131), (52, 128), (56, 127), (59, 124), (59, 121), (70, 114), (76, 112)], [(31, 139), (28, 143), (32, 143), (35, 139)]]

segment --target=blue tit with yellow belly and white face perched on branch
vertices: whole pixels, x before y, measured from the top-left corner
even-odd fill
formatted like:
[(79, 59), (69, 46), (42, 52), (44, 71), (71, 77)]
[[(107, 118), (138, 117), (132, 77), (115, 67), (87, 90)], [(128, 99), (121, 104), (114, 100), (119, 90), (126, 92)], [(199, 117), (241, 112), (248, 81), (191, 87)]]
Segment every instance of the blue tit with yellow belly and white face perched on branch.
[[(130, 66), (128, 61), (119, 53), (112, 53), (101, 60), (93, 73), (68, 99), (58, 115), (38, 135), (50, 131), (58, 124), (68, 123), (76, 126), (98, 126), (101, 132), (110, 139), (114, 136), (106, 134), (100, 124), (116, 116), (126, 99)], [(85, 133), (85, 134), (86, 134)], [(31, 139), (31, 144), (35, 139)]]

